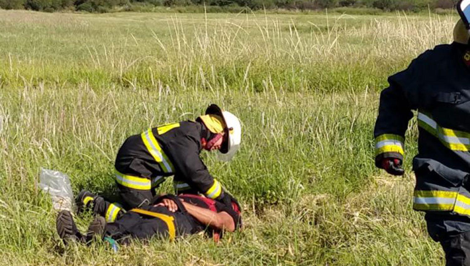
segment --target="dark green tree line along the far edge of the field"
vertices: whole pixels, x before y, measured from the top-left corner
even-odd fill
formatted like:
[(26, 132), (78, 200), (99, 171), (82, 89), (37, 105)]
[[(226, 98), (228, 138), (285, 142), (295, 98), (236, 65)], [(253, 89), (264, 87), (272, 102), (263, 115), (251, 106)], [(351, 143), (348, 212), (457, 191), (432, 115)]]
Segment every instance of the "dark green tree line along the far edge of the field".
[(0, 0), (2, 9), (30, 9), (45, 12), (60, 10), (109, 12), (111, 10), (145, 10), (151, 7), (201, 6), (251, 9), (298, 9), (324, 8), (376, 8), (384, 11), (453, 8), (455, 0)]

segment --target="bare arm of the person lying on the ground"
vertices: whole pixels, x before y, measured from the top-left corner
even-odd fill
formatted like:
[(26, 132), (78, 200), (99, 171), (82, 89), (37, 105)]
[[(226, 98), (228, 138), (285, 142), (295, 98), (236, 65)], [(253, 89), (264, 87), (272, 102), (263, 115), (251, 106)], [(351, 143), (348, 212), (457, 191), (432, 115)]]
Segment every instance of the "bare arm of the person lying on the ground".
[(186, 202), (182, 202), (188, 213), (201, 223), (215, 229), (235, 231), (235, 221), (232, 216), (226, 212), (215, 213)]

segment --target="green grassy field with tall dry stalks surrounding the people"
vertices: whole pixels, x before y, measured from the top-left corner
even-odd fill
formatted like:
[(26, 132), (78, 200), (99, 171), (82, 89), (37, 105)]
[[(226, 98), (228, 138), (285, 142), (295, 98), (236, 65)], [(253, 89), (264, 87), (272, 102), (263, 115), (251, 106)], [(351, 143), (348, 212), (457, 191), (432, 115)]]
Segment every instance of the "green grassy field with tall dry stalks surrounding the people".
[[(456, 20), (0, 10), (0, 264), (444, 265), (411, 210), (415, 122), (403, 178), (374, 168), (372, 130), (387, 76), (450, 42)], [(40, 167), (113, 194), (127, 136), (212, 102), (243, 122), (234, 160), (203, 152), (243, 205), (242, 232), (63, 246)]]

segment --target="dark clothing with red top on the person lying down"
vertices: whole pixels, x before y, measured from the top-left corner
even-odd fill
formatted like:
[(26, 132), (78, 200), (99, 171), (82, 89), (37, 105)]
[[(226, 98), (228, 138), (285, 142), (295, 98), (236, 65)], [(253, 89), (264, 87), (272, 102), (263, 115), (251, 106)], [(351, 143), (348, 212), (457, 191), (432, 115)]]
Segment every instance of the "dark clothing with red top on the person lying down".
[[(178, 211), (171, 212), (163, 205), (156, 205), (163, 198), (170, 198), (178, 205)], [(204, 231), (208, 228), (190, 215), (180, 199), (201, 208), (210, 209), (220, 213), (227, 212), (235, 222), (235, 228), (241, 221), (238, 207), (237, 211), (223, 205), (215, 200), (196, 195), (182, 194), (178, 197), (167, 195), (160, 197), (154, 205), (146, 205), (124, 213), (113, 223), (108, 223), (105, 228), (105, 236), (110, 236), (115, 240), (126, 243), (131, 238), (149, 239), (152, 236), (174, 239), (178, 236), (185, 236)]]

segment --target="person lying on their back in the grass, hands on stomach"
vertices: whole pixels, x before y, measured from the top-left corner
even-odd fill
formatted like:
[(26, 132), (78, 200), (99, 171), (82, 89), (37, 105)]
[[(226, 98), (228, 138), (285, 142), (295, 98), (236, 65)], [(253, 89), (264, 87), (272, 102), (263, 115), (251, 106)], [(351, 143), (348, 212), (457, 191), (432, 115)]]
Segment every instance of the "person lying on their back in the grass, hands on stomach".
[[(103, 200), (102, 204), (109, 203)], [(112, 223), (97, 215), (85, 235), (79, 232), (72, 214), (65, 210), (57, 215), (56, 228), (66, 244), (71, 240), (89, 243), (94, 238), (123, 244), (131, 239), (145, 240), (153, 236), (173, 240), (202, 231), (218, 241), (224, 231), (233, 232), (242, 226), (240, 206), (236, 201), (230, 204), (192, 194), (164, 195), (151, 205), (122, 213)]]

